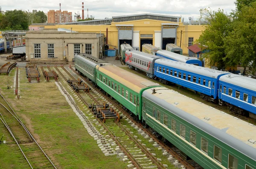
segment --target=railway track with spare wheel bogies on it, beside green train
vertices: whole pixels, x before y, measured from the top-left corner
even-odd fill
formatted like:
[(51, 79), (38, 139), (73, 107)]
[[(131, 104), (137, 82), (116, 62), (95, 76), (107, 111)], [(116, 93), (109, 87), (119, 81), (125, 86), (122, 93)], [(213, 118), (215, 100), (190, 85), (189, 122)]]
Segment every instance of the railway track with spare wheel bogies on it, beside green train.
[[(71, 73), (67, 71), (67, 69), (65, 69), (63, 66), (61, 66), (61, 68), (63, 70), (62, 72), (67, 73), (70, 78), (75, 79), (75, 77), (73, 77), (73, 75), (71, 75)], [(66, 81), (68, 80), (56, 66), (55, 69), (59, 74), (61, 74), (62, 77), (64, 77)], [(77, 75), (76, 77), (79, 76)], [(76, 95), (79, 96), (79, 98), (83, 101), (85, 105), (87, 105), (87, 107), (90, 107), (90, 103), (101, 104), (98, 101), (99, 98), (96, 98), (95, 95), (93, 96), (90, 93), (87, 93), (87, 95), (90, 96), (90, 103), (87, 101), (88, 99), (84, 99), (81, 93), (76, 92)], [(143, 144), (140, 143), (140, 141), (137, 140), (136, 137), (134, 137), (134, 135), (132, 135), (132, 133), (125, 128), (125, 126), (118, 123), (116, 120), (107, 121), (106, 123), (103, 123), (102, 120), (99, 119), (98, 121), (111, 135), (113, 141), (119, 146), (123, 154), (125, 154), (127, 158), (132, 161), (132, 164), (137, 169), (143, 169), (144, 167), (150, 167), (152, 169), (166, 168), (166, 165), (160, 163), (160, 161), (158, 161), (157, 158), (155, 158), (154, 155), (151, 154), (151, 152), (149, 152), (148, 149), (146, 149), (145, 146), (143, 146)], [(121, 129), (122, 132), (120, 132), (120, 130), (114, 130), (116, 126), (119, 126), (119, 129)]]

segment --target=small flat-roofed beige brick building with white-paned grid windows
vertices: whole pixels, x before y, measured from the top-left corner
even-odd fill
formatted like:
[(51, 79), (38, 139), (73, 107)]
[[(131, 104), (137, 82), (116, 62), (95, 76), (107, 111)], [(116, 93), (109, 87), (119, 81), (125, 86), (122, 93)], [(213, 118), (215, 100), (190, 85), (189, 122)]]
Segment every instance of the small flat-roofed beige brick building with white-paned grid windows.
[(57, 29), (26, 32), (26, 60), (30, 62), (72, 62), (76, 53), (102, 56), (104, 34), (58, 32)]

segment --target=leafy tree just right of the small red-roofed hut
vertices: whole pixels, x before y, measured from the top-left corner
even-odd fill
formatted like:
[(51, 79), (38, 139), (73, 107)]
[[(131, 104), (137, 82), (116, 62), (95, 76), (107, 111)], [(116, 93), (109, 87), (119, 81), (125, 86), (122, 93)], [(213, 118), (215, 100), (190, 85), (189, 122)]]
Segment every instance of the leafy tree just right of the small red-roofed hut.
[(207, 26), (195, 43), (207, 46), (208, 52), (204, 57), (209, 59), (210, 65), (217, 63), (218, 69), (223, 69), (229, 62), (225, 54), (224, 39), (232, 31), (230, 17), (221, 9), (218, 11), (201, 9), (201, 16)]

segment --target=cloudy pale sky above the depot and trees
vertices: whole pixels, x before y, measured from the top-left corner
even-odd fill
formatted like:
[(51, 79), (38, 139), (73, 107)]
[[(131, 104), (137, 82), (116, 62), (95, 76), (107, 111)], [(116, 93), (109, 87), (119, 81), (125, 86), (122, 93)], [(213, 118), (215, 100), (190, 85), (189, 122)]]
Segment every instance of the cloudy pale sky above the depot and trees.
[(69, 11), (74, 14), (78, 11), (82, 14), (82, 2), (84, 2), (84, 18), (92, 15), (95, 19), (111, 18), (113, 16), (131, 14), (163, 14), (171, 16), (188, 17), (197, 20), (200, 17), (200, 9), (211, 8), (213, 11), (224, 9), (230, 13), (236, 7), (234, 0), (1, 0), (2, 11), (21, 9), (24, 11), (40, 10), (47, 13), (50, 9), (59, 10), (61, 3), (62, 11)]

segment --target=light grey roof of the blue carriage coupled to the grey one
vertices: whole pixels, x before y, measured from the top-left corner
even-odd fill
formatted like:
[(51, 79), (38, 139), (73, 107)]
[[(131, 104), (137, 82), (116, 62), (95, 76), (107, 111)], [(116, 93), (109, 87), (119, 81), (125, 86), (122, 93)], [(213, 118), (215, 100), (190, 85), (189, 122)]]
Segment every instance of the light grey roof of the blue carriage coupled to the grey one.
[(174, 67), (177, 69), (182, 69), (184, 71), (201, 74), (201, 75), (212, 77), (212, 78), (217, 78), (219, 75), (222, 75), (222, 74), (229, 74), (229, 72), (223, 72), (220, 70), (205, 68), (201, 66), (188, 64), (188, 63), (177, 62), (175, 60), (169, 60), (169, 59), (157, 59), (155, 63)]

